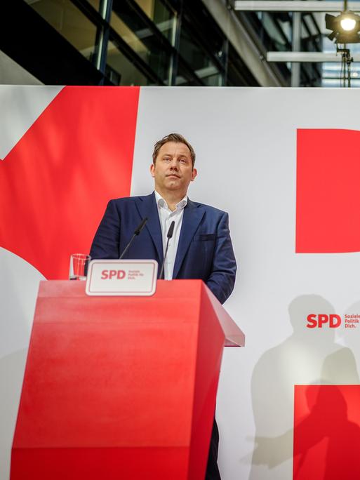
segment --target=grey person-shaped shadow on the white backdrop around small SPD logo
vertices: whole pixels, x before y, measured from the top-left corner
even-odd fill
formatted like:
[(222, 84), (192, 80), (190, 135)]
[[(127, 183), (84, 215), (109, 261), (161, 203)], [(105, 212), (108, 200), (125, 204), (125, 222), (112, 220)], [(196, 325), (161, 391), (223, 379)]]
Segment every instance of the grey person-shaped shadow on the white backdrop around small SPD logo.
[(293, 333), (265, 352), (253, 371), (254, 448), (241, 459), (251, 462), (249, 480), (292, 476), (294, 385), (359, 384), (354, 354), (335, 342), (334, 329), (307, 328), (308, 314), (333, 314), (333, 305), (320, 295), (301, 295), (288, 312)]

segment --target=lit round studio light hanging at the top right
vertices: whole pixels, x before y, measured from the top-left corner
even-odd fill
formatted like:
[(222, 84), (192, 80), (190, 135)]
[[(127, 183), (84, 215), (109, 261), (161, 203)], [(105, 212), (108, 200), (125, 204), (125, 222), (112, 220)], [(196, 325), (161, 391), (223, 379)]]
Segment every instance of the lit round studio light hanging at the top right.
[(326, 28), (332, 30), (328, 38), (335, 40), (335, 44), (360, 43), (360, 16), (345, 11), (338, 16), (325, 15)]

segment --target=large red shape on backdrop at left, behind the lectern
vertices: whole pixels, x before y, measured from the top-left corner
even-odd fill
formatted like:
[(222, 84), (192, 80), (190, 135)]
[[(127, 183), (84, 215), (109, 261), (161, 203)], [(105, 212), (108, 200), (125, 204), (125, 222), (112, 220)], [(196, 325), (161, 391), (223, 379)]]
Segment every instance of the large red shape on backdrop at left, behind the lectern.
[(0, 164), (0, 246), (48, 279), (88, 253), (111, 198), (128, 196), (138, 87), (65, 87)]

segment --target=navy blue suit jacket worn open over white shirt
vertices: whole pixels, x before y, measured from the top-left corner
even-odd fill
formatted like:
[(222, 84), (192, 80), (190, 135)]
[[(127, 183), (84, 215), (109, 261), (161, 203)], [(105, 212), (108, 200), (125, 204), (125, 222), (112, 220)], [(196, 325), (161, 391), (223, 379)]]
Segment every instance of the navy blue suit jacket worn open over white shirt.
[[(155, 195), (110, 200), (91, 246), (91, 258), (119, 258), (142, 218), (147, 224), (124, 258), (164, 258)], [(187, 201), (182, 218), (173, 279), (201, 279), (223, 303), (232, 293), (236, 260), (228, 215), (208, 205)]]

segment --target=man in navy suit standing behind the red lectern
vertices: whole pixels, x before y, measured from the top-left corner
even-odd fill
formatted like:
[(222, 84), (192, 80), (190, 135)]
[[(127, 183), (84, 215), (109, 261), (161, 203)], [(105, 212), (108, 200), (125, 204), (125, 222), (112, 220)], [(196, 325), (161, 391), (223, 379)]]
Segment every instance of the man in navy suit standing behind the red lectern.
[[(175, 222), (164, 265), (164, 278), (202, 279), (223, 303), (232, 293), (236, 260), (227, 213), (187, 197), (197, 175), (195, 152), (178, 133), (156, 142), (150, 173), (155, 191), (109, 201), (91, 246), (91, 258), (119, 258), (141, 220), (147, 223), (124, 258), (164, 259), (167, 232)], [(218, 427), (214, 421), (206, 480), (220, 479)]]

